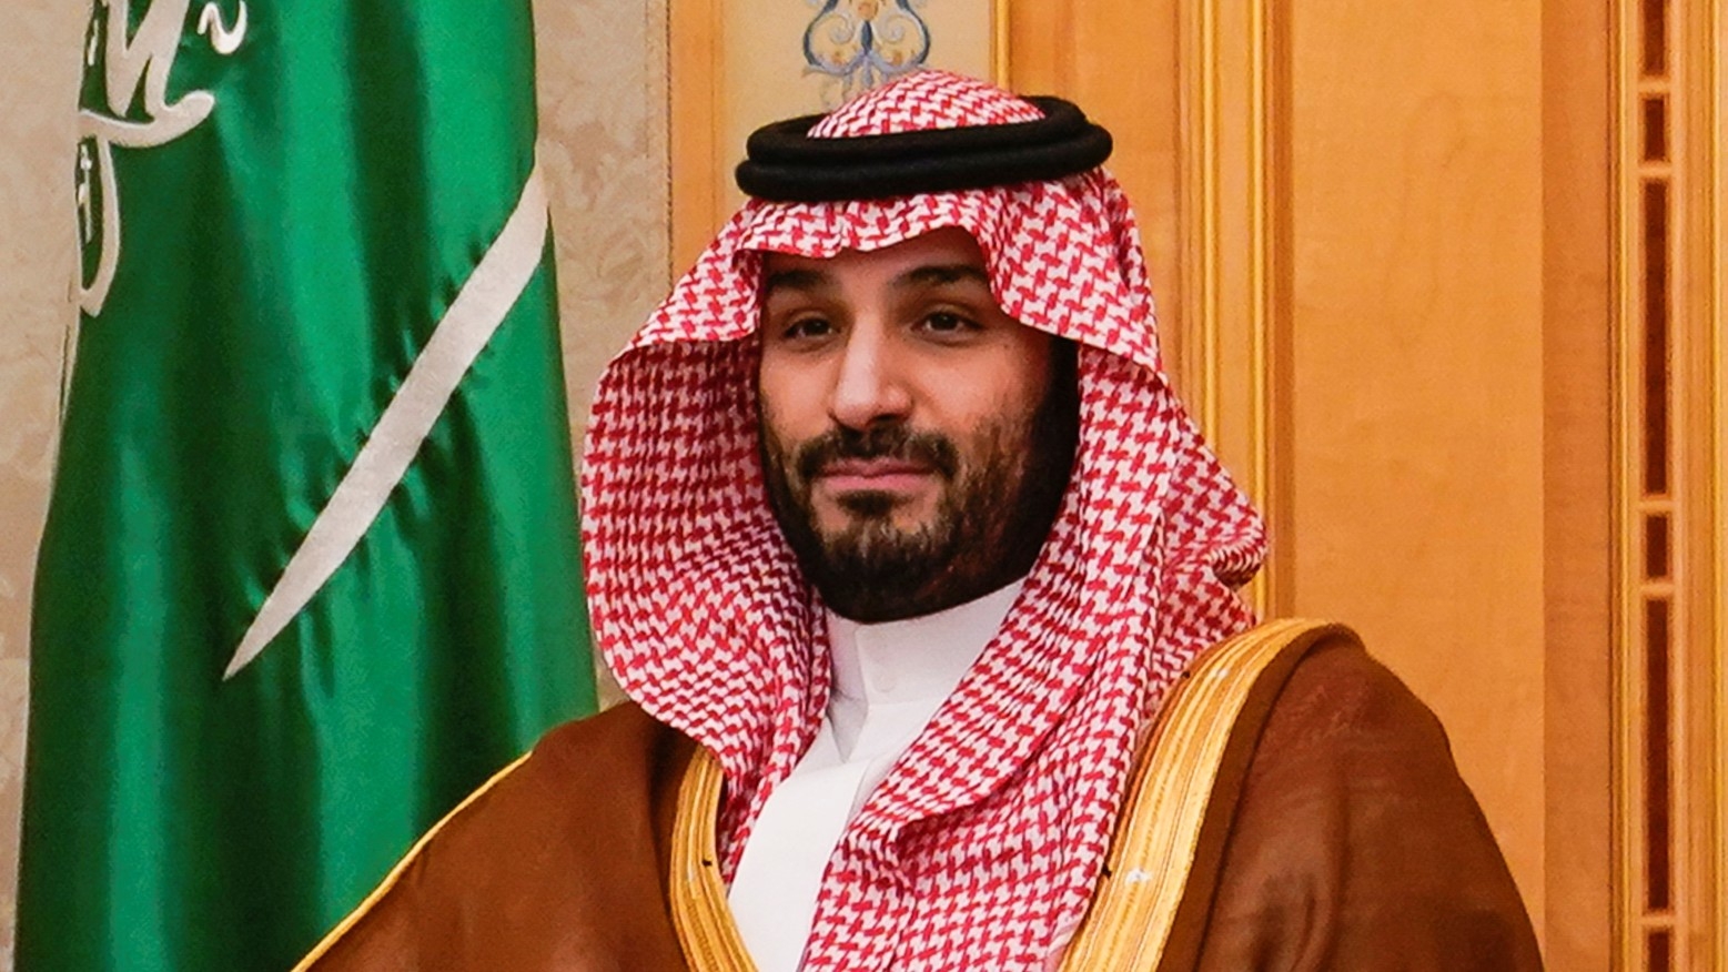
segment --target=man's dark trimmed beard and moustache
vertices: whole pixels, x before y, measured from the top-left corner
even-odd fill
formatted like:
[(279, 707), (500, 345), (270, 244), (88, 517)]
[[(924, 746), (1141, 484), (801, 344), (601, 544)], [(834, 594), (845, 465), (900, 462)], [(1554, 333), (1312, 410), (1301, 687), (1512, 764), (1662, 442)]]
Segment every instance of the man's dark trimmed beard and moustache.
[[(862, 623), (916, 618), (964, 604), (1032, 570), (1056, 521), (1073, 468), (1080, 407), (1075, 345), (1058, 342), (1051, 383), (1030, 416), (971, 435), (971, 451), (904, 421), (836, 426), (800, 444), (776, 440), (760, 423), (769, 508), (804, 577), (836, 615)], [(848, 514), (824, 533), (810, 483), (840, 459), (905, 459), (942, 482), (937, 509), (916, 528), (893, 521), (890, 492), (848, 492)]]

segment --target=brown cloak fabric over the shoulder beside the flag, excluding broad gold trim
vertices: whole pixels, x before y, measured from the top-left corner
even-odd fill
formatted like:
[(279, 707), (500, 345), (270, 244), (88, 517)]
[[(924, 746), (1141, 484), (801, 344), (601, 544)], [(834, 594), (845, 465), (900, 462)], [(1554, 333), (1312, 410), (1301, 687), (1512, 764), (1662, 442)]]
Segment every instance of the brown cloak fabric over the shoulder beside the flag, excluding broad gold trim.
[[(347, 969), (683, 969), (667, 832), (695, 744), (634, 704), (546, 732), (314, 953)], [(434, 960), (435, 956), (435, 960)]]

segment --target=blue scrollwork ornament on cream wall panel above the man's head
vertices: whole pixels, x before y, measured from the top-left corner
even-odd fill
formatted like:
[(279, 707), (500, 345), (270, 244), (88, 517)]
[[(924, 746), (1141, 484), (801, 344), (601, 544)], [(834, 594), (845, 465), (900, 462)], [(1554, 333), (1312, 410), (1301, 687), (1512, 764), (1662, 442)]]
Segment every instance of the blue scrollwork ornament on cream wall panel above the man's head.
[(928, 0), (805, 0), (821, 7), (804, 29), (809, 73), (831, 79), (824, 102), (840, 100), (914, 71), (930, 57)]

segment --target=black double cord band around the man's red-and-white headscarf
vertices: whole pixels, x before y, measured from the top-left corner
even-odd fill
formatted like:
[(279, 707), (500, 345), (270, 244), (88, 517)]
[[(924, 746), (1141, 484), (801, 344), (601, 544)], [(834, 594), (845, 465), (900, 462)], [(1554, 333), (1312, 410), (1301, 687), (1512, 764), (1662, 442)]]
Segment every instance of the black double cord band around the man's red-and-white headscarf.
[(852, 138), (810, 138), (819, 114), (776, 121), (745, 143), (738, 188), (772, 202), (886, 199), (1059, 180), (1109, 157), (1109, 133), (1073, 102), (1026, 100), (1044, 117)]

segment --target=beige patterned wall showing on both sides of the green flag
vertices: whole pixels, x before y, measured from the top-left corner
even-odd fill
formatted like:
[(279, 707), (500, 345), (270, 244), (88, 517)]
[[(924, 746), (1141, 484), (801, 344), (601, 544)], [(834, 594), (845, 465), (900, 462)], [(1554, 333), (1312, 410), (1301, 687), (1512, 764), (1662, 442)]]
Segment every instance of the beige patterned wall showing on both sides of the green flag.
[[(605, 361), (665, 292), (665, 3), (541, 0), (541, 152), (575, 428)], [(0, 972), (12, 967), (31, 563), (74, 314), (73, 110), (83, 3), (0, 12)]]

